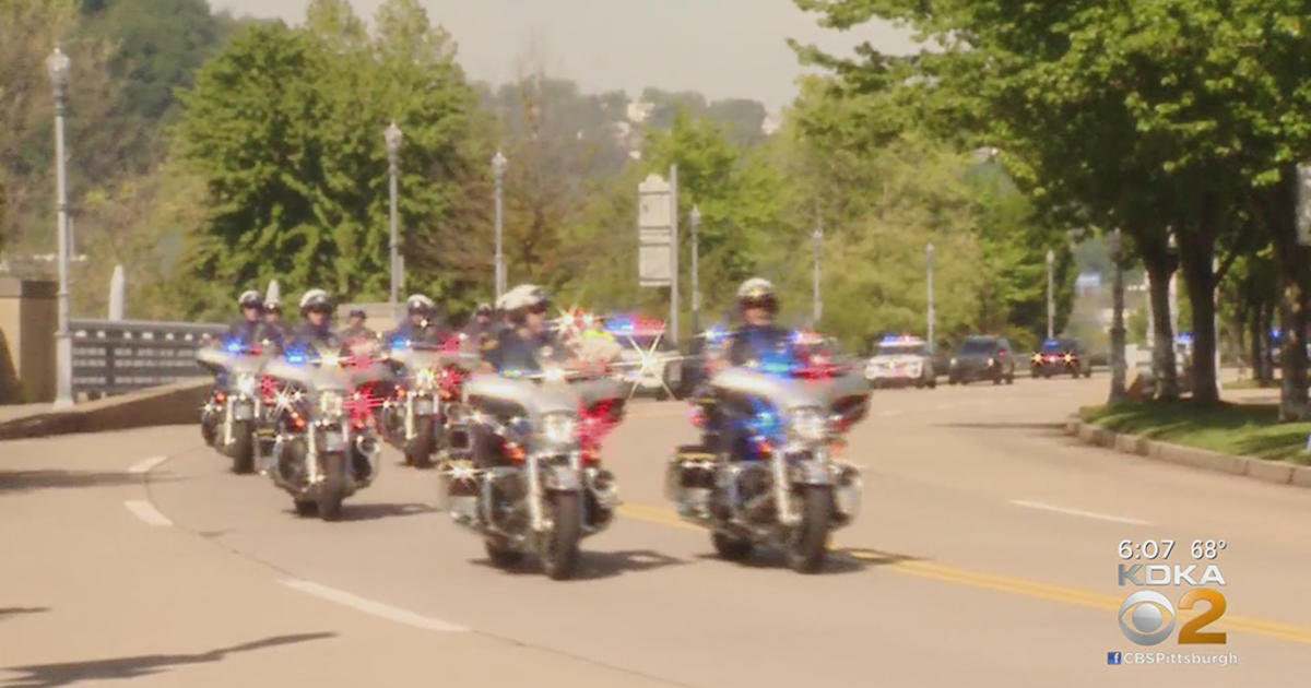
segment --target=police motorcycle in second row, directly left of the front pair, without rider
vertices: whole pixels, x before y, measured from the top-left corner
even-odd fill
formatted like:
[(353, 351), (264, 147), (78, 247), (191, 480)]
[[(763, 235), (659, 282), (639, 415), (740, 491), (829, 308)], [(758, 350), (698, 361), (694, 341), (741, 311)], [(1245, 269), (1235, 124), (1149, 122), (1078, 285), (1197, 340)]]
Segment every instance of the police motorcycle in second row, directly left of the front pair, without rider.
[(340, 519), (342, 501), (378, 478), (374, 389), (392, 381), (383, 362), (341, 354), (288, 350), (265, 367), (283, 387), (260, 474), (291, 494), (298, 515), (324, 520)]

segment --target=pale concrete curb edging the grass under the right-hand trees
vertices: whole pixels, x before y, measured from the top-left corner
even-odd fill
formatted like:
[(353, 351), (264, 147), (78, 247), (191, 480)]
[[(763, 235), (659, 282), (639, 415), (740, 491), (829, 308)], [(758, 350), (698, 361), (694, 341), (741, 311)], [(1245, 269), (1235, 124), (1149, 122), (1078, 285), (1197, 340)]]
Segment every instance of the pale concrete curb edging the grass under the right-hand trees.
[(1120, 453), (1130, 453), (1145, 459), (1217, 473), (1228, 473), (1231, 476), (1244, 476), (1274, 485), (1311, 487), (1311, 467), (1290, 464), (1287, 461), (1268, 461), (1252, 456), (1235, 456), (1147, 439), (1142, 435), (1116, 432), (1096, 423), (1082, 421), (1078, 415), (1071, 415), (1066, 421), (1065, 431), (1067, 435), (1079, 438), (1086, 444), (1104, 447)]

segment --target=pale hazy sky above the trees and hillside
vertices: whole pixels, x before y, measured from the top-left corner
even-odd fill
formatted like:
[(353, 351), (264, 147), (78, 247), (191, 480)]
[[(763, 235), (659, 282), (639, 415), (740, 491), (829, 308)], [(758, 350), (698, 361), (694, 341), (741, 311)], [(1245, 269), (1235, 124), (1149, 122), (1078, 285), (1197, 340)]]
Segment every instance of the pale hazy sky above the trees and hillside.
[[(304, 20), (308, 0), (210, 0), (235, 16)], [(351, 0), (363, 17), (382, 0)], [(501, 84), (543, 66), (583, 90), (646, 86), (753, 98), (771, 111), (792, 101), (804, 71), (787, 39), (847, 55), (869, 41), (914, 52), (910, 31), (871, 24), (852, 31), (817, 25), (792, 0), (421, 0), (450, 31), (471, 79)]]

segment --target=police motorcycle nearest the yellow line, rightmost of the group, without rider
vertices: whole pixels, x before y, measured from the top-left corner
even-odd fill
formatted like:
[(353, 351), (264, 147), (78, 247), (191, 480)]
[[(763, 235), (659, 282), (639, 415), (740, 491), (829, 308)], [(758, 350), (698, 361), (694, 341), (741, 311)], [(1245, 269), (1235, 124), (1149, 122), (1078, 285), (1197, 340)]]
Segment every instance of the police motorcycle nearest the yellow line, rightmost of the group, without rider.
[(705, 446), (675, 451), (666, 497), (679, 516), (711, 531), (721, 557), (742, 561), (772, 545), (793, 570), (814, 573), (830, 532), (860, 512), (860, 472), (835, 453), (868, 413), (868, 397), (851, 366), (821, 356), (713, 373), (694, 400)]

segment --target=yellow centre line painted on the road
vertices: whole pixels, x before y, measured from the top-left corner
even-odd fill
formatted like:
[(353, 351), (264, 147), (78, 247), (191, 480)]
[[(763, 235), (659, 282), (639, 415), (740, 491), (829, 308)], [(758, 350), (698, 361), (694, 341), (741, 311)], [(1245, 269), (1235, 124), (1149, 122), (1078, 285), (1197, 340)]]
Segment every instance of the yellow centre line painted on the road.
[[(699, 526), (694, 526), (691, 523), (684, 522), (674, 511), (656, 506), (625, 503), (619, 507), (619, 512), (624, 518), (631, 518), (635, 520), (658, 523), (661, 526), (671, 526), (675, 528), (683, 528), (690, 531), (703, 529)], [(881, 554), (878, 552), (868, 549), (835, 546), (834, 550), (844, 552), (848, 556), (861, 561), (886, 562), (882, 566), (880, 566), (880, 569), (886, 569), (906, 575), (914, 575), (916, 578), (939, 581), (943, 583), (975, 587), (981, 590), (992, 590), (996, 592), (1009, 592), (1012, 595), (1023, 595), (1027, 598), (1058, 602), (1063, 604), (1087, 607), (1091, 609), (1101, 609), (1108, 612), (1118, 612), (1120, 605), (1124, 603), (1124, 598), (1106, 595), (1104, 592), (1096, 592), (1091, 590), (1078, 590), (1072, 587), (1054, 586), (1049, 583), (1038, 583), (1036, 581), (1011, 578), (1006, 575), (996, 575), (982, 571), (970, 571), (965, 569), (956, 569), (953, 566), (944, 566), (941, 564), (929, 564), (924, 561), (889, 562), (888, 561), (889, 557), (886, 554)], [(1198, 611), (1180, 609), (1177, 619), (1179, 621), (1186, 621), (1197, 616), (1198, 613), (1200, 613)], [(1249, 633), (1252, 636), (1262, 636), (1266, 638), (1276, 638), (1289, 642), (1311, 645), (1311, 628), (1298, 626), (1293, 624), (1282, 624), (1277, 621), (1266, 621), (1264, 619), (1253, 619), (1248, 616), (1224, 615), (1219, 621), (1206, 628), (1206, 630), (1211, 629), (1243, 632), (1243, 633)]]

